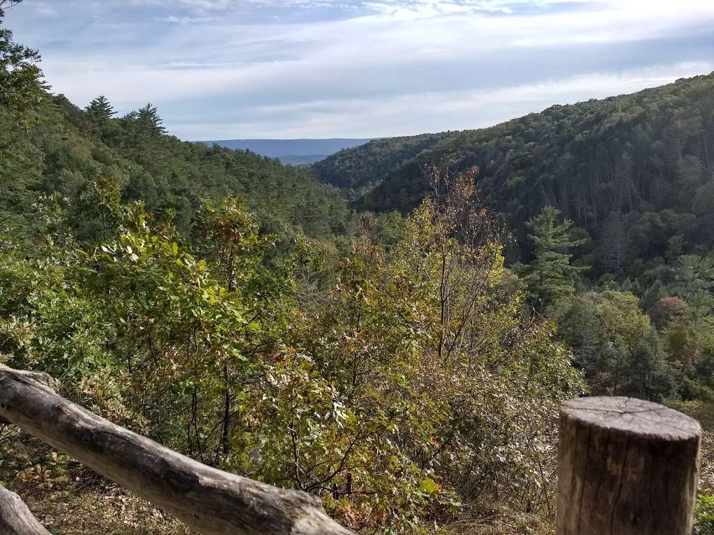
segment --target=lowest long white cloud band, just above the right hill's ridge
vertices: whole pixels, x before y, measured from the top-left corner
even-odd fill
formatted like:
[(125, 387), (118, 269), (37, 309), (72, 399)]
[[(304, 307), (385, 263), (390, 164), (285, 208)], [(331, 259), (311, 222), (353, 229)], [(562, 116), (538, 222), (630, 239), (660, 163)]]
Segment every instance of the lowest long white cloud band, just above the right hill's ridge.
[[(251, 121), (169, 124), (179, 136), (226, 139), (408, 136), (421, 132), (483, 128), (558, 103), (603, 98), (671, 83), (714, 69), (713, 63), (681, 63), (613, 73), (593, 73), (490, 91), (410, 93), (387, 99), (315, 100), (251, 108)], [(286, 117), (293, 118), (286, 121)]]

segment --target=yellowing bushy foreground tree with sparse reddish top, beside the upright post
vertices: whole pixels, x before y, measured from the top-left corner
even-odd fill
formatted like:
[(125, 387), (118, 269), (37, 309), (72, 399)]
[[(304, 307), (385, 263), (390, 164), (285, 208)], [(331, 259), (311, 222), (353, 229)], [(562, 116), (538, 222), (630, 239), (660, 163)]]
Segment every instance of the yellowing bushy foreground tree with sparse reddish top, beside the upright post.
[[(552, 474), (535, 469), (550, 463), (546, 422), (562, 385), (582, 387), (550, 325), (521, 315), (470, 178), (436, 182), (398, 242), (366, 229), (323, 304), (296, 317), (246, 444), (272, 446), (256, 476), (322, 489), (364, 529), (416, 527), (496, 494), (547, 507), (537, 489)], [(280, 450), (291, 457), (277, 462)]]

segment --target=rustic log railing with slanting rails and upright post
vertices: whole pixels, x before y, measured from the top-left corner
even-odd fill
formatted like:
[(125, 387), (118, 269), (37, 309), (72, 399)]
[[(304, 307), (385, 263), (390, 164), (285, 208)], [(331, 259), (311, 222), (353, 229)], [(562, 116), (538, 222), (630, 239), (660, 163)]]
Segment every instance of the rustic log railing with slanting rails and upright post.
[[(203, 535), (347, 535), (320, 499), (222, 472), (112, 424), (0, 366), (0, 419), (151, 501)], [(701, 429), (661, 405), (573, 399), (560, 409), (558, 535), (690, 535)], [(0, 486), (0, 535), (49, 535)]]

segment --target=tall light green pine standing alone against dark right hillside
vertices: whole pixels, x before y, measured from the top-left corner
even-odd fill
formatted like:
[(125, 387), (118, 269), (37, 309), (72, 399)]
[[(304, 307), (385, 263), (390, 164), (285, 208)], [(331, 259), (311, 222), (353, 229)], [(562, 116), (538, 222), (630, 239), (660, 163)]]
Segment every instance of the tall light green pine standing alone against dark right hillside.
[(571, 221), (555, 225), (559, 213), (552, 206), (546, 206), (526, 223), (535, 259), (521, 268), (521, 275), (534, 304), (541, 309), (553, 305), (560, 297), (571, 295), (578, 272), (588, 269), (570, 265), (572, 255), (568, 249), (582, 245), (585, 240), (573, 238)]

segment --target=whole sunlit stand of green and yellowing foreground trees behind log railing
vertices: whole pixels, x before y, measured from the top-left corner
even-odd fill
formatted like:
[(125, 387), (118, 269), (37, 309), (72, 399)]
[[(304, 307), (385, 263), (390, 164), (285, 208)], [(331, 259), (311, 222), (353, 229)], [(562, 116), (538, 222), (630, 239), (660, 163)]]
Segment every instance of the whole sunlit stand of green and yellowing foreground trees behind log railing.
[[(112, 213), (116, 185), (98, 186)], [(272, 240), (238, 198), (206, 203), (193, 248), (141, 203), (97, 248), (53, 235), (34, 260), (0, 243), (0, 351), (355, 529), (411, 531), (496, 496), (547, 508), (557, 407), (583, 384), (553, 327), (522, 314), (498, 235), (473, 238), (491, 225), (473, 205), (458, 183), (389, 248), (356, 238), (301, 307), (302, 258), (266, 264)]]

